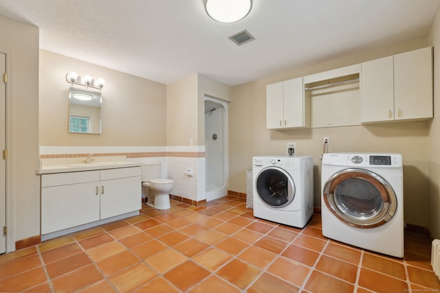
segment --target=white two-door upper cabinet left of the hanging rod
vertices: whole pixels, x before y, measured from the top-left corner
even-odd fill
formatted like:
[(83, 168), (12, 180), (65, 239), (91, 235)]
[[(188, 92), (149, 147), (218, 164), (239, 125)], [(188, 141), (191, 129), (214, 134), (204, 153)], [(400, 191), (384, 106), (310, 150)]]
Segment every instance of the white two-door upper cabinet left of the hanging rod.
[(267, 85), (266, 127), (267, 129), (306, 127), (303, 78)]

